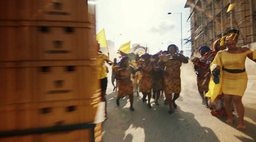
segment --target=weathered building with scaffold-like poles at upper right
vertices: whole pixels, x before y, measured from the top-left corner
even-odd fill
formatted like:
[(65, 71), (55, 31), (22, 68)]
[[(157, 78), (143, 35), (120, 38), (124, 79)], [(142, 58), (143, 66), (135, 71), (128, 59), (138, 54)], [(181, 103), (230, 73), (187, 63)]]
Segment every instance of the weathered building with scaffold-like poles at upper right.
[[(256, 48), (255, 0), (188, 0), (192, 55), (202, 45), (211, 46), (227, 29), (238, 29), (237, 46)], [(234, 8), (227, 12), (228, 6)]]

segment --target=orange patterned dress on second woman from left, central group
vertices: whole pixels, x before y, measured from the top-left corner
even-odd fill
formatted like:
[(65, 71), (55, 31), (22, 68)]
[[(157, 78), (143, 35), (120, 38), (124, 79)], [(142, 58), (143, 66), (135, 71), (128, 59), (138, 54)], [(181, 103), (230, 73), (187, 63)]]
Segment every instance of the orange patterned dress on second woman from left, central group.
[(152, 89), (152, 63), (146, 63), (144, 60), (138, 60), (138, 65), (141, 66), (141, 80), (140, 80), (140, 92), (151, 92)]

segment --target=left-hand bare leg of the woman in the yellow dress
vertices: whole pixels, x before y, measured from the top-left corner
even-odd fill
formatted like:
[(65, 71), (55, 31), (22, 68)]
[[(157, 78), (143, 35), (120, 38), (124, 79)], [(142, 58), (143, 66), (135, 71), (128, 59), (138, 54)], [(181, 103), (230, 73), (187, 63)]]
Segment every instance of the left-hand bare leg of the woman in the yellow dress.
[(232, 96), (228, 94), (224, 94), (224, 105), (225, 110), (227, 111), (228, 119), (226, 120), (227, 124), (233, 124), (232, 117)]

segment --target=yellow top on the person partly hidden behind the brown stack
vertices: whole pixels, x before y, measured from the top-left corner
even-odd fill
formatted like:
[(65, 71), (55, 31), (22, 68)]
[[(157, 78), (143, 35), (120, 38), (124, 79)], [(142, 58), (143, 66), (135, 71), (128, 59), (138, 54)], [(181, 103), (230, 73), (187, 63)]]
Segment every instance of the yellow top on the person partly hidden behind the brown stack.
[(104, 53), (99, 53), (97, 56), (97, 66), (98, 66), (98, 79), (108, 77), (106, 67), (104, 65), (104, 60), (108, 59), (108, 56)]

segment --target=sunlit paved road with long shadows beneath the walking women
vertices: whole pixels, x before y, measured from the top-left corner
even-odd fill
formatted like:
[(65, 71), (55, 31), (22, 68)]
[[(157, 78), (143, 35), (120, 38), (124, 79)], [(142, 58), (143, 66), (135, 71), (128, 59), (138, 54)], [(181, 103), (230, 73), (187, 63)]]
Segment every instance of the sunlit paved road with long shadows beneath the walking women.
[(168, 114), (168, 106), (163, 104), (163, 98), (160, 98), (159, 106), (152, 103), (149, 109), (141, 101), (142, 94), (134, 94), (134, 112), (129, 110), (128, 97), (121, 99), (120, 106), (116, 106), (117, 92), (113, 92), (110, 74), (106, 96), (108, 119), (103, 123), (103, 141), (256, 141), (254, 72), (249, 75), (248, 89), (243, 97), (247, 126), (244, 131), (236, 129), (236, 111), (234, 125), (228, 125), (225, 124), (226, 117), (212, 117), (209, 109), (201, 104), (191, 64), (182, 65), (182, 92), (177, 99), (178, 108), (172, 115)]

